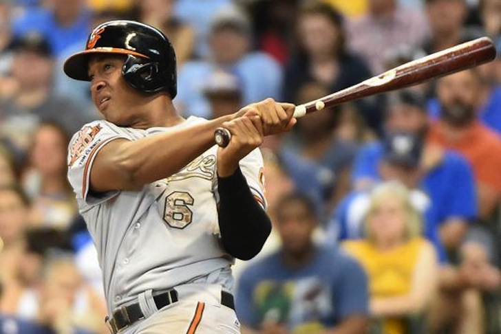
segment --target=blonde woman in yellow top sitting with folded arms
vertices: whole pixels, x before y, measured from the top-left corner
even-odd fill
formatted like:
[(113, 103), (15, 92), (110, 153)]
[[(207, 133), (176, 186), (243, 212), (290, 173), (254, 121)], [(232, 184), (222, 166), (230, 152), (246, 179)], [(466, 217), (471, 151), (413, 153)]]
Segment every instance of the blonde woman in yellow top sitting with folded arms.
[[(428, 333), (425, 319), (438, 288), (434, 247), (420, 236), (422, 219), (402, 183), (376, 186), (364, 215), (365, 237), (343, 248), (369, 277), (374, 333)], [(480, 332), (471, 332), (480, 333)]]

